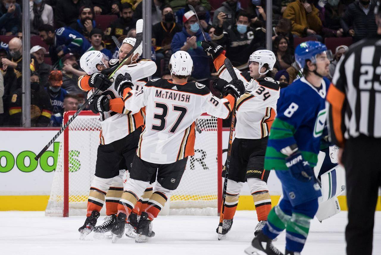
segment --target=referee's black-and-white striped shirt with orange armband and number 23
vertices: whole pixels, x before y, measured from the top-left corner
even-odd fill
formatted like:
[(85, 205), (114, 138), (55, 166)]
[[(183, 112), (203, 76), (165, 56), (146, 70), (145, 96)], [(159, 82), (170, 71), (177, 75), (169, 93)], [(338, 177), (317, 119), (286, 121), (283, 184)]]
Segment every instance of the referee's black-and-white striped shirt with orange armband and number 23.
[(334, 143), (342, 147), (360, 134), (381, 138), (381, 38), (349, 48), (336, 66), (327, 101)]

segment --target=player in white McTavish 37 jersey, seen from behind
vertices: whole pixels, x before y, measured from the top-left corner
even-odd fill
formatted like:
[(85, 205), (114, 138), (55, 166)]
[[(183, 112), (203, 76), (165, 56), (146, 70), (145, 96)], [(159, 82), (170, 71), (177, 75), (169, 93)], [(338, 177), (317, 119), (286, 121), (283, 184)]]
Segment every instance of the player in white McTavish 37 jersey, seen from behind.
[(123, 91), (125, 108), (135, 113), (146, 107), (146, 118), (130, 180), (119, 201), (118, 224), (112, 229), (113, 241), (122, 237), (126, 218), (157, 174), (154, 193), (141, 214), (135, 241), (144, 242), (154, 235), (151, 221), (178, 187), (188, 156), (194, 155), (195, 121), (205, 112), (228, 118), (234, 96), (245, 91), (242, 82), (226, 84), (222, 88), (226, 96), (218, 99), (205, 85), (187, 82), (193, 61), (185, 51), (177, 51), (171, 56), (169, 69), (173, 81), (151, 80), (141, 91), (131, 89), (128, 80), (115, 84), (118, 91)]

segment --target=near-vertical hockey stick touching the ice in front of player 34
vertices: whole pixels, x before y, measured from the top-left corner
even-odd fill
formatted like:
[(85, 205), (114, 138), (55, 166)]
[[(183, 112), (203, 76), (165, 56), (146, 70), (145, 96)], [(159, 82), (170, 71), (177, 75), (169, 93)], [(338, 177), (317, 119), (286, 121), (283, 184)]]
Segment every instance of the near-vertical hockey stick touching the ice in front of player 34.
[[(226, 70), (229, 72), (230, 76), (232, 77), (233, 81), (238, 80), (237, 74), (234, 72), (232, 63), (228, 58), (224, 61)], [(227, 188), (227, 176), (229, 175), (229, 166), (230, 166), (230, 157), (232, 152), (232, 142), (233, 142), (233, 129), (234, 129), (234, 123), (235, 123), (235, 104), (237, 102), (237, 99), (234, 98), (234, 106), (232, 110), (232, 122), (230, 125), (230, 131), (229, 131), (229, 145), (227, 147), (227, 158), (226, 158), (226, 169), (225, 169), (225, 177), (224, 177), (224, 186), (222, 190), (222, 205), (221, 205), (221, 212), (219, 214), (219, 224), (218, 224), (218, 234), (222, 234), (222, 225), (224, 220), (224, 211), (225, 211), (225, 200), (226, 200), (226, 188)], [(218, 238), (220, 240), (220, 237)]]

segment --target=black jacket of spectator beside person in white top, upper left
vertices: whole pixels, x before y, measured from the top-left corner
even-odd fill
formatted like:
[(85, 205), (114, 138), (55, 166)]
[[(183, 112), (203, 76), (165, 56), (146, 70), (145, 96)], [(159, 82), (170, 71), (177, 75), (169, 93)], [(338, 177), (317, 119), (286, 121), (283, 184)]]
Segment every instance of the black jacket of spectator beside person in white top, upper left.
[(83, 5), (92, 6), (90, 0), (58, 0), (54, 13), (54, 26), (56, 28), (69, 27), (77, 22), (79, 9)]

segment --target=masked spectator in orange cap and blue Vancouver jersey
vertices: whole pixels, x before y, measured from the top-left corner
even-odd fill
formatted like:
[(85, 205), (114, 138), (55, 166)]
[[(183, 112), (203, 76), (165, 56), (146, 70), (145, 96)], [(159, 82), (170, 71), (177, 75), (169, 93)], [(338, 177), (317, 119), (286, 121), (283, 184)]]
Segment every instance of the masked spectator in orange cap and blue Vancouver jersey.
[(64, 107), (64, 98), (67, 95), (67, 91), (62, 88), (61, 71), (53, 70), (50, 72), (46, 91), (50, 96), (50, 103), (53, 107), (52, 114), (61, 112)]

